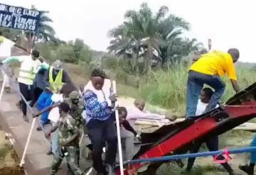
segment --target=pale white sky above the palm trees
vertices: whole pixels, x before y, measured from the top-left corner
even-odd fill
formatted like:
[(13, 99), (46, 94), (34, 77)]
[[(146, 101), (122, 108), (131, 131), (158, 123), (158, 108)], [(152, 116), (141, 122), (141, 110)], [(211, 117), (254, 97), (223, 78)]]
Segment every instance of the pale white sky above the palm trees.
[(183, 35), (196, 38), (214, 50), (240, 50), (240, 61), (256, 62), (256, 10), (253, 0), (1, 0), (0, 3), (49, 11), (52, 26), (61, 40), (81, 38), (93, 50), (106, 51), (107, 31), (124, 21), (127, 10), (146, 2), (154, 11), (168, 6), (169, 13), (184, 18), (191, 30)]

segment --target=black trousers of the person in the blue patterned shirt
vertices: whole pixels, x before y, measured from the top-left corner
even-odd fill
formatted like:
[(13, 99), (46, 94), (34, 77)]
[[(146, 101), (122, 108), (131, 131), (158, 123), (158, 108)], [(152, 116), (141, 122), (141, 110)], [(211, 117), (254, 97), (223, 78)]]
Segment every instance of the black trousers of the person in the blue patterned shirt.
[(102, 148), (107, 142), (106, 164), (113, 165), (117, 154), (117, 130), (112, 118), (101, 121), (91, 119), (87, 128), (92, 141), (93, 166), (99, 173), (105, 173), (102, 163)]

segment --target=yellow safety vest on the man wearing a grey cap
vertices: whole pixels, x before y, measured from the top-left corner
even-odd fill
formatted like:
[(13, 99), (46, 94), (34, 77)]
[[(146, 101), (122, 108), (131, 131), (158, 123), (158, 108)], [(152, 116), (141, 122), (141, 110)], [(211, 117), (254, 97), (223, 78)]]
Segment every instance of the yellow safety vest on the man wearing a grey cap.
[(55, 81), (53, 81), (53, 67), (50, 67), (49, 69), (49, 83), (50, 83), (50, 89), (53, 90), (53, 93), (58, 93), (60, 89), (63, 86), (63, 69), (60, 69), (58, 72)]

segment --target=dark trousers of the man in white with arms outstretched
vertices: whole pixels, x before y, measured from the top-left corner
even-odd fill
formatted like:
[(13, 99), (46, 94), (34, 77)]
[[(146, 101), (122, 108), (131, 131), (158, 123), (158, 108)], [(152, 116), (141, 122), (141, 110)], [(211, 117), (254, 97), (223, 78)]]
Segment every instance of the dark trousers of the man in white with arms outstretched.
[[(18, 83), (21, 94), (26, 99), (26, 101), (31, 101), (33, 98), (33, 85), (27, 85), (23, 83)], [(26, 115), (27, 106), (23, 98), (21, 98), (21, 109), (23, 115)]]

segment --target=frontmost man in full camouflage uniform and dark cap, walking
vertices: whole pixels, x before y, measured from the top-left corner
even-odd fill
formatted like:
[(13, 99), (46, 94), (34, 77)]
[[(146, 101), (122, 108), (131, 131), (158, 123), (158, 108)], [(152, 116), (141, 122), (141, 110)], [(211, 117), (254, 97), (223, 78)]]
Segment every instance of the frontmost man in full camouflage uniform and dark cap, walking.
[[(75, 124), (75, 119), (69, 115), (70, 106), (67, 102), (60, 103), (58, 106), (60, 111), (60, 120), (56, 123), (50, 132), (54, 132), (57, 128), (59, 136), (59, 147), (57, 153), (54, 155), (53, 164), (51, 167), (50, 174), (54, 175), (57, 173), (58, 168), (66, 157), (69, 164), (70, 170), (73, 174), (80, 175), (84, 174), (78, 166), (79, 156), (79, 129)], [(50, 132), (46, 136), (50, 135)]]

